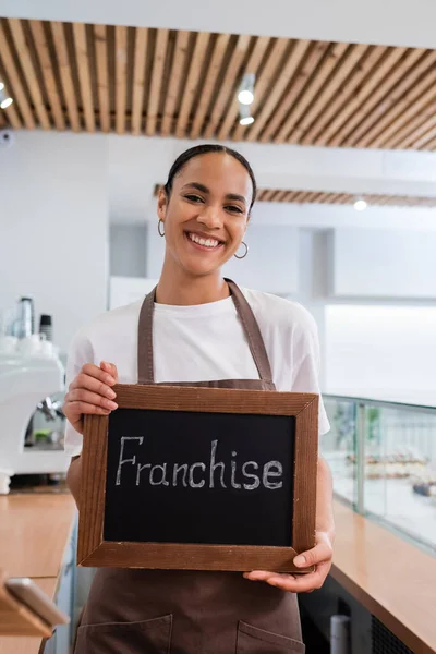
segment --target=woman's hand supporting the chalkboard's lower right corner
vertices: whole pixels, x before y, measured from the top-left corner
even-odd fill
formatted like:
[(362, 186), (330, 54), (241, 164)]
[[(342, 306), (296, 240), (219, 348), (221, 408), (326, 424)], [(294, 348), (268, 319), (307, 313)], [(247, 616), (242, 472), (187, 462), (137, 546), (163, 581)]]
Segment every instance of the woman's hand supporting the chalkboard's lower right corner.
[(298, 568), (315, 566), (314, 572), (282, 574), (265, 570), (253, 570), (253, 572), (245, 572), (244, 577), (251, 581), (266, 581), (269, 585), (290, 593), (310, 593), (320, 589), (331, 568), (332, 535), (328, 532), (317, 531), (315, 543), (313, 549), (303, 552), (293, 559)]

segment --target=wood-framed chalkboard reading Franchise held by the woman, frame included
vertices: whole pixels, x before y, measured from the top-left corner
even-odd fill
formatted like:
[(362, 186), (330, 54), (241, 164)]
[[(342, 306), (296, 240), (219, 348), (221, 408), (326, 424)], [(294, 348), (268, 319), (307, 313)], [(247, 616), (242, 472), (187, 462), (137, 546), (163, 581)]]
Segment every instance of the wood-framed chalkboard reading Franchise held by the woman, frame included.
[(315, 536), (317, 395), (114, 390), (117, 411), (85, 416), (78, 565), (302, 572), (293, 558)]

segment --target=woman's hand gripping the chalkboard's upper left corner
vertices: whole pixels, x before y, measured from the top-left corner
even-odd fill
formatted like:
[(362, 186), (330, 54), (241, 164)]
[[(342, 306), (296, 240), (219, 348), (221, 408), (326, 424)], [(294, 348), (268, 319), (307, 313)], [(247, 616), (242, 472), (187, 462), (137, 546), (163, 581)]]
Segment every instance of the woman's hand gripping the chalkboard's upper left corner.
[(118, 409), (111, 386), (118, 382), (117, 366), (102, 361), (86, 363), (70, 384), (62, 411), (74, 429), (83, 434), (84, 414), (109, 415)]

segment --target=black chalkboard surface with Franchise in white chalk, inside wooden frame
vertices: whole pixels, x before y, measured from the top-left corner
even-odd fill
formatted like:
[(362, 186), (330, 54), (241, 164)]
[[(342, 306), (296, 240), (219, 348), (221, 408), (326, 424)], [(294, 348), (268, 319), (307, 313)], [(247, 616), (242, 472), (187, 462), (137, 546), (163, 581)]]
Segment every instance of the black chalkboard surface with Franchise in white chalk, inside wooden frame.
[(295, 420), (119, 409), (105, 541), (292, 544)]

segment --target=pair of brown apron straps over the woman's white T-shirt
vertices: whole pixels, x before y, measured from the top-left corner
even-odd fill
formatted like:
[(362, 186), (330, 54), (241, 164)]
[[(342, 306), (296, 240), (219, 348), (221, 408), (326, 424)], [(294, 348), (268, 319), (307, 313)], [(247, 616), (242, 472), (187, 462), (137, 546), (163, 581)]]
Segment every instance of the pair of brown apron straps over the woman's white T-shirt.
[[(242, 328), (249, 341), (250, 351), (256, 364), (261, 379), (272, 382), (271, 366), (266, 352), (261, 329), (252, 307), (245, 300), (241, 289), (231, 279), (226, 279), (229, 284)], [(156, 287), (157, 288), (157, 287)], [(137, 382), (138, 384), (154, 384), (155, 373), (153, 365), (153, 314), (155, 310), (156, 288), (146, 295), (140, 312), (137, 335)]]

